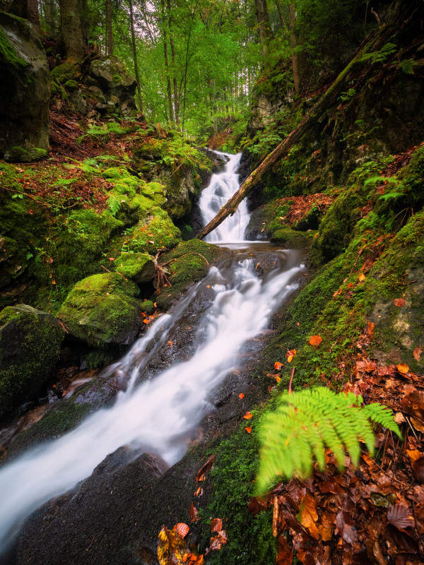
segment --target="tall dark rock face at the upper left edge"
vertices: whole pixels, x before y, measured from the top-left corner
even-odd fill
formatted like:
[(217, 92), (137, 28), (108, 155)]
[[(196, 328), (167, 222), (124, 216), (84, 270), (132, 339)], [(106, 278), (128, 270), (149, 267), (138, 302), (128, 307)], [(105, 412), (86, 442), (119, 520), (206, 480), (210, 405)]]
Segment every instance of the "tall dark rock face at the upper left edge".
[(29, 162), (49, 149), (49, 66), (28, 20), (0, 13), (0, 155)]

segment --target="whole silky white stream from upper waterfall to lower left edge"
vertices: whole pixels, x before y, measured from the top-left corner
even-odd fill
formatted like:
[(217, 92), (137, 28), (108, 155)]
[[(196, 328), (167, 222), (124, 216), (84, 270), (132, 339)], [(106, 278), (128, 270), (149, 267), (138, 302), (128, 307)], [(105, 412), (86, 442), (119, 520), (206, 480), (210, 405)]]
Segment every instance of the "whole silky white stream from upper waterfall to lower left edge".
[[(213, 175), (201, 197), (205, 223), (237, 190), (240, 155), (228, 155), (225, 172)], [(231, 194), (230, 194), (231, 193)], [(205, 211), (206, 210), (206, 211)], [(270, 316), (298, 286), (305, 270), (304, 254), (275, 253), (274, 268), (257, 276), (254, 242), (243, 242), (249, 215), (225, 220), (214, 242), (231, 242), (232, 256), (212, 267), (207, 277), (160, 316), (131, 350), (103, 371), (130, 375), (126, 391), (111, 408), (90, 415), (76, 429), (24, 453), (0, 469), (0, 553), (20, 530), (25, 518), (45, 501), (74, 487), (120, 446), (137, 453), (157, 453), (169, 465), (187, 451), (193, 430), (215, 408), (211, 392), (240, 364), (242, 345), (265, 331)], [(260, 244), (264, 250), (264, 244)], [(149, 362), (165, 347), (172, 328), (207, 289), (208, 306), (193, 335), (193, 355), (151, 379), (143, 380)]]

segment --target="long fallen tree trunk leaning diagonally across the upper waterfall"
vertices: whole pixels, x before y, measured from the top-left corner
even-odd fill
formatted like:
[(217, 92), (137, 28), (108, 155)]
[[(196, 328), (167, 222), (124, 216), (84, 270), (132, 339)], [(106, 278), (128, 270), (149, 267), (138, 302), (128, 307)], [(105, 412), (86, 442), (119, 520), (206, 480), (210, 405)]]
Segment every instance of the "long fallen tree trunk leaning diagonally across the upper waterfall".
[[(240, 189), (233, 194), (230, 200), (220, 208), (218, 214), (213, 218), (204, 229), (196, 235), (198, 239), (203, 239), (211, 231), (215, 230), (218, 225), (220, 225), (228, 215), (233, 215), (239, 204), (246, 198), (250, 191), (256, 186), (264, 177), (264, 174), (269, 171), (271, 166), (282, 157), (288, 154), (290, 149), (299, 141), (302, 135), (310, 129), (313, 124), (317, 122), (319, 117), (328, 109), (331, 104), (335, 102), (341, 91), (346, 88), (348, 81), (352, 78), (352, 71), (360, 64), (363, 56), (371, 51), (377, 51), (381, 49), (383, 45), (389, 40), (389, 37), (394, 33), (394, 25), (396, 21), (399, 23), (402, 19), (405, 19), (405, 10), (403, 9), (406, 5), (406, 0), (401, 0), (396, 4), (393, 12), (389, 16), (389, 22), (383, 25), (377, 32), (372, 32), (372, 37), (367, 37), (367, 40), (363, 42), (363, 46), (360, 47), (355, 54), (355, 57), (351, 60), (348, 66), (341, 71), (334, 83), (329, 87), (328, 90), (317, 100), (317, 102), (312, 106), (309, 112), (302, 119), (300, 124), (293, 129), (293, 131), (278, 145), (272, 153), (270, 153), (261, 162), (259, 167), (254, 169), (252, 174), (247, 177), (245, 182), (242, 183)], [(405, 8), (406, 9), (406, 8)], [(407, 10), (406, 10), (407, 11)], [(408, 13), (408, 16), (410, 14)]]

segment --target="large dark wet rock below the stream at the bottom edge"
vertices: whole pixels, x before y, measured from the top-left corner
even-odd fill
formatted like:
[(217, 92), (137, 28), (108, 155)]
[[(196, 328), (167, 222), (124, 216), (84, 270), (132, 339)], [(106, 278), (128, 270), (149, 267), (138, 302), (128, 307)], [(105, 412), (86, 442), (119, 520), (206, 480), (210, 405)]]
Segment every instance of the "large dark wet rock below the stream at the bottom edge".
[(162, 525), (189, 521), (200, 456), (189, 453), (167, 471), (157, 456), (131, 458), (134, 453), (119, 448), (76, 492), (34, 513), (20, 537), (16, 564), (30, 556), (35, 565), (156, 564)]

